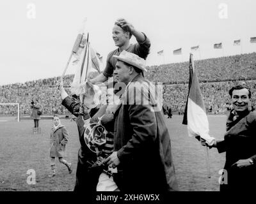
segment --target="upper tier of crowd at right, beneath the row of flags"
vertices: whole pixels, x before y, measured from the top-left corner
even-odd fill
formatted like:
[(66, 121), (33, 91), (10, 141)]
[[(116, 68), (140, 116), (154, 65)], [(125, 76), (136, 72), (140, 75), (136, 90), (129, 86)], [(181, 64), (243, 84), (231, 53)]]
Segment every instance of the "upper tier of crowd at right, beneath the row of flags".
[[(256, 53), (195, 61), (200, 82), (256, 79)], [(189, 62), (151, 66), (145, 73), (150, 82), (182, 84), (189, 81)]]

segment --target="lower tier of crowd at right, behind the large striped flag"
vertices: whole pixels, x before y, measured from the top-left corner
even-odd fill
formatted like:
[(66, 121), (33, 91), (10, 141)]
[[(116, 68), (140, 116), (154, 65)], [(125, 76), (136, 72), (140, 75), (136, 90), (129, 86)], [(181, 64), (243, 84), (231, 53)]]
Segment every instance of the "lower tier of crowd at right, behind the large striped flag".
[[(252, 105), (256, 105), (256, 80), (208, 82), (200, 83), (200, 89), (204, 98), (205, 109), (208, 113), (223, 113), (230, 110), (230, 87), (244, 84), (252, 90)], [(173, 112), (184, 113), (188, 96), (188, 84), (165, 84), (163, 86), (163, 105), (171, 107)]]

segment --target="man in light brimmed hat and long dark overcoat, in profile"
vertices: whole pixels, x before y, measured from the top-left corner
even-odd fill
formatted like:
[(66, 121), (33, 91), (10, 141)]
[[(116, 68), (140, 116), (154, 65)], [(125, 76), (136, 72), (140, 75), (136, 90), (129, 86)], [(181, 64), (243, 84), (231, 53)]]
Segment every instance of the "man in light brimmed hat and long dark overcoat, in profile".
[(125, 50), (113, 57), (114, 75), (126, 87), (115, 113), (114, 152), (105, 163), (117, 167), (120, 191), (175, 191), (170, 135), (152, 84), (141, 75), (145, 60)]

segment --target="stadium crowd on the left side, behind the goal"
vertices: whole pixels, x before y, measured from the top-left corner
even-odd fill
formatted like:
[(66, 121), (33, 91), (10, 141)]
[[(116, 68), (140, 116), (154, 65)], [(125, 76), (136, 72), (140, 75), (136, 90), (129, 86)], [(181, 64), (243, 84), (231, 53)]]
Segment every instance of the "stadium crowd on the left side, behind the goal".
[[(73, 76), (74, 77), (74, 76)], [(66, 83), (72, 82), (72, 76), (65, 77)], [(24, 84), (10, 84), (0, 87), (0, 103), (20, 103), (20, 114), (30, 114), (31, 99), (36, 98), (43, 106), (43, 114), (65, 113), (60, 106), (60, 98), (54, 96), (56, 78), (33, 80)], [(0, 114), (13, 114), (17, 107), (0, 106)]]

